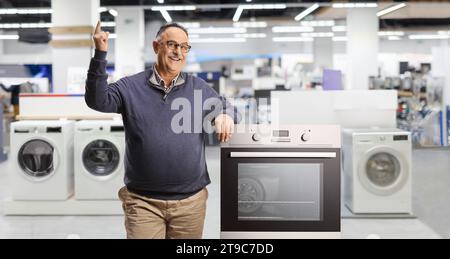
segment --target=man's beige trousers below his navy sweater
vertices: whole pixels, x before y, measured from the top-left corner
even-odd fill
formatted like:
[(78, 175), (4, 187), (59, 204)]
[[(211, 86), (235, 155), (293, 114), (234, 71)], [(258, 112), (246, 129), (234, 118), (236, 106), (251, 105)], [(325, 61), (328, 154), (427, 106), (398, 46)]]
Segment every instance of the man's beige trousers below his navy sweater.
[(128, 239), (200, 239), (205, 222), (208, 190), (184, 200), (157, 200), (119, 191)]

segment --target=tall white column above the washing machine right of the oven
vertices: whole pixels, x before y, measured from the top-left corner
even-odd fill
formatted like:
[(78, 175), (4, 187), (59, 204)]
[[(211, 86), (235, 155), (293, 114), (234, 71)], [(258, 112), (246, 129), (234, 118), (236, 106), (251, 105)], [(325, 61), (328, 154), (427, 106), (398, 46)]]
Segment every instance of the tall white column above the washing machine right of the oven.
[(347, 10), (347, 89), (369, 89), (369, 76), (378, 74), (377, 8)]

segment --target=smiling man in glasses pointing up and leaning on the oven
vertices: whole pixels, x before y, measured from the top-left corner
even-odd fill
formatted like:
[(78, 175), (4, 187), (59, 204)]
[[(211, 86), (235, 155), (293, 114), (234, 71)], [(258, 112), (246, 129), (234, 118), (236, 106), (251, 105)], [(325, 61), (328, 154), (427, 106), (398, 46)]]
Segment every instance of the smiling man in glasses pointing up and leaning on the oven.
[[(181, 72), (191, 49), (182, 26), (172, 23), (160, 28), (153, 42), (157, 55), (153, 69), (110, 85), (105, 72), (108, 36), (97, 23), (85, 99), (92, 109), (123, 116), (126, 186), (119, 197), (127, 236), (201, 238), (208, 197), (205, 187), (210, 183), (203, 120), (211, 118), (219, 140), (226, 142), (238, 114), (206, 82)], [(174, 120), (180, 113), (174, 108), (186, 102), (187, 111), (196, 110), (195, 102), (201, 102), (200, 107), (213, 103), (215, 108), (200, 111), (201, 120), (194, 119), (195, 114)], [(180, 132), (179, 122), (192, 127)]]

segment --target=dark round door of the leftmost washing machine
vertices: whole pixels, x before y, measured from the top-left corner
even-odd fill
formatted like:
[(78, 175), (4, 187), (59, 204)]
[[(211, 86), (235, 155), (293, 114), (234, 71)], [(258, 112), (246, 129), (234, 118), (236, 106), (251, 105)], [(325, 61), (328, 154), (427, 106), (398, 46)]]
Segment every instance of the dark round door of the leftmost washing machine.
[(45, 140), (30, 140), (22, 145), (18, 162), (26, 176), (33, 180), (43, 180), (55, 171), (55, 149)]

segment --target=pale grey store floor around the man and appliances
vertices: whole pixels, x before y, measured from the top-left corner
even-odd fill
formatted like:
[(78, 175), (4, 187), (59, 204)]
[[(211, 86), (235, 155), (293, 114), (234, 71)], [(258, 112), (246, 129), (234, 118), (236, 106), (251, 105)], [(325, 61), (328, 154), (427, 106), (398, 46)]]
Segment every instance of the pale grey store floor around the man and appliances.
[[(450, 238), (450, 151), (414, 152), (414, 211), (417, 219), (343, 219), (343, 238)], [(219, 149), (208, 148), (209, 186), (205, 238), (219, 238)], [(430, 169), (432, 168), (432, 169)], [(7, 163), (0, 164), (0, 200), (9, 196)], [(445, 206), (446, 208), (442, 208)], [(121, 216), (3, 216), (0, 238), (125, 238)], [(439, 233), (439, 234), (438, 234)]]

